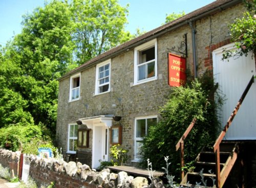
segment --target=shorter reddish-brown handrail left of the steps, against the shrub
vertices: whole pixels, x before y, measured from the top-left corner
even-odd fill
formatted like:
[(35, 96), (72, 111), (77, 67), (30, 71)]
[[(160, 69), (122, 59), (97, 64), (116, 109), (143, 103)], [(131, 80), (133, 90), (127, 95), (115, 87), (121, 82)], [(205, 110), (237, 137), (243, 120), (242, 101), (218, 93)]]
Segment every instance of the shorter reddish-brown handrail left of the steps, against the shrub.
[[(181, 169), (184, 167), (184, 140), (186, 139), (187, 135), (191, 131), (191, 129), (194, 127), (197, 119), (196, 117), (192, 120), (190, 125), (187, 127), (186, 131), (182, 134), (179, 142), (176, 144), (176, 151), (180, 149), (180, 167)], [(184, 178), (184, 171), (181, 170), (181, 179)]]

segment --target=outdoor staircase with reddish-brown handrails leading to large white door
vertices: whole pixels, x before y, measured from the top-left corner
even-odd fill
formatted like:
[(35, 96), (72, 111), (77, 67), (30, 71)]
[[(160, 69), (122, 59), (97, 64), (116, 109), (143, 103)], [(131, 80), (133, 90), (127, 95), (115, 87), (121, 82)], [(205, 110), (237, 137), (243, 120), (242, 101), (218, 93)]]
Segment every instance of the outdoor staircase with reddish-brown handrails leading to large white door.
[[(181, 183), (183, 187), (222, 187), (230, 173), (234, 163), (237, 160), (239, 147), (237, 142), (223, 142), (228, 128), (230, 127), (234, 116), (237, 114), (247, 92), (249, 91), (252, 83), (254, 81), (254, 76), (251, 77), (247, 87), (245, 88), (240, 100), (238, 101), (236, 107), (231, 113), (224, 129), (220, 133), (219, 137), (216, 139), (216, 143), (213, 147), (213, 151), (202, 151), (196, 158), (195, 169), (193, 172), (188, 172), (184, 176), (184, 172), (181, 171)], [(184, 140), (187, 135), (193, 129), (196, 119), (194, 119), (184, 134), (181, 136), (179, 142), (176, 145), (176, 150), (180, 149), (181, 156), (181, 169), (184, 167)], [(202, 170), (203, 169), (203, 170)], [(210, 170), (210, 173), (209, 173)], [(206, 181), (207, 180), (207, 181)], [(200, 186), (198, 183), (201, 182)]]

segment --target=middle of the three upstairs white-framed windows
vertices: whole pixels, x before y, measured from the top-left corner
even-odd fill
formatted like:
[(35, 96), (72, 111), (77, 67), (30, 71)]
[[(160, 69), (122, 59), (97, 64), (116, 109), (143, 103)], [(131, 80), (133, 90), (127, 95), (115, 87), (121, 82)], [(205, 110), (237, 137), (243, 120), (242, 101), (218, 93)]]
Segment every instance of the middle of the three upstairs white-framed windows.
[(96, 66), (95, 95), (110, 91), (110, 60)]

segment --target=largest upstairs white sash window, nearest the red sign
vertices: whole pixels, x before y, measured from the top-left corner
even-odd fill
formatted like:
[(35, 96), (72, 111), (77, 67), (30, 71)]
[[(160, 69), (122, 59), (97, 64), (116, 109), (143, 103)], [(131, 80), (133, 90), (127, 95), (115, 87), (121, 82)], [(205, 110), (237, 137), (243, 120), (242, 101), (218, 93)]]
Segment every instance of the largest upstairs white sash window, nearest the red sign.
[(157, 79), (157, 40), (151, 40), (135, 48), (134, 84)]

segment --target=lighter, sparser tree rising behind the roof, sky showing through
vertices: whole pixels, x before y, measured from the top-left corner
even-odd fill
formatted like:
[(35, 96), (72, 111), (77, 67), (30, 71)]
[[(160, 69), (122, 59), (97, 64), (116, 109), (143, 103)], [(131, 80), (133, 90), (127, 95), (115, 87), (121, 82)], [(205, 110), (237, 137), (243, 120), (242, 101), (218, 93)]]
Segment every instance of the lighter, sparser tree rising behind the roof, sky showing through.
[(121, 7), (117, 0), (73, 0), (71, 11), (78, 64), (124, 42), (123, 36), (130, 39), (124, 32), (127, 6)]

